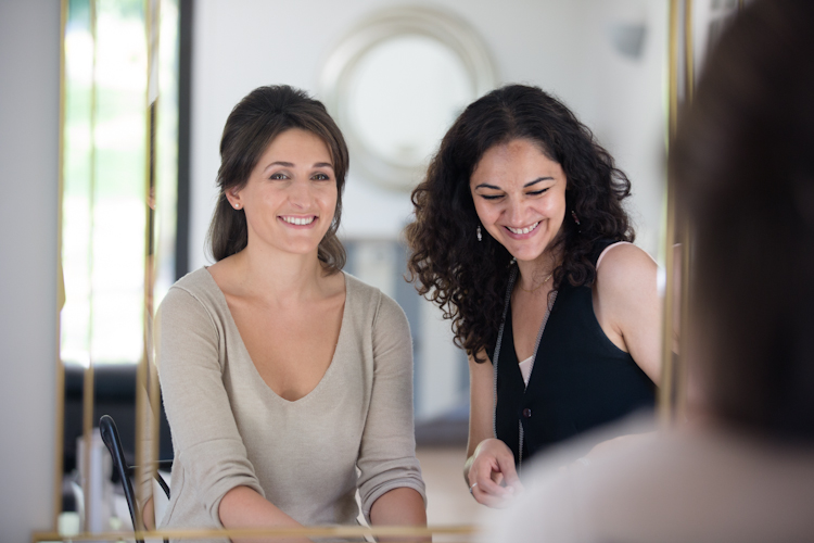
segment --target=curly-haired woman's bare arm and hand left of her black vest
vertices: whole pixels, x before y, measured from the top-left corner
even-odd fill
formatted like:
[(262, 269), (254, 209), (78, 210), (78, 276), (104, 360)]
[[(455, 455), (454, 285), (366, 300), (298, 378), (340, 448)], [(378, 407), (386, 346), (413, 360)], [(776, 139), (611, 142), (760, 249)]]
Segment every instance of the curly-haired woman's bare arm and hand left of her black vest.
[(506, 507), (523, 487), (514, 469), (514, 455), (494, 437), (495, 375), (488, 358), (478, 364), (469, 357), (469, 443), (463, 479), (479, 503)]

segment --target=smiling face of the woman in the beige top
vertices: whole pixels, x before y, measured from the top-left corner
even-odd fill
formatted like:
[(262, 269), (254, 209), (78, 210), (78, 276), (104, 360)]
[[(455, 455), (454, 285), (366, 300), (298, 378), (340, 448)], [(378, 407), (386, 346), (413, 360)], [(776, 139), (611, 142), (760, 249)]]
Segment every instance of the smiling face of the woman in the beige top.
[(245, 210), (249, 247), (306, 254), (317, 250), (336, 210), (331, 153), (316, 135), (291, 128), (260, 155), (246, 185), (227, 190)]

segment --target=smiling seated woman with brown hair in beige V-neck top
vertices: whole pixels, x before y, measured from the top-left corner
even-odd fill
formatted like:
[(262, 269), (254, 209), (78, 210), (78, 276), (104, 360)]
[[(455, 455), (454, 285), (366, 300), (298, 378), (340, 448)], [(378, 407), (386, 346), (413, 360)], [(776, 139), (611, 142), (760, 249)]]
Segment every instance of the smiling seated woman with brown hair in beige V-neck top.
[(372, 523), (425, 525), (407, 320), (341, 272), (339, 128), (305, 93), (260, 87), (220, 154), (217, 262), (170, 289), (156, 325), (175, 449), (162, 525), (355, 523), (357, 490)]

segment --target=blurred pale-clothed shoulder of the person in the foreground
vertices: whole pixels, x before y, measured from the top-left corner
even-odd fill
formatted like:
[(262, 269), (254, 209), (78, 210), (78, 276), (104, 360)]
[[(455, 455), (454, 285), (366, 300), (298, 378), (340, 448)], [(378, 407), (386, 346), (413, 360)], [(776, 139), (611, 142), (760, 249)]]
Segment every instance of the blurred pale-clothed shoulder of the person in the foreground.
[(587, 465), (559, 465), (549, 457), (535, 466), (526, 492), (499, 514), (484, 541), (717, 543), (814, 536), (809, 447), (726, 431), (648, 433)]

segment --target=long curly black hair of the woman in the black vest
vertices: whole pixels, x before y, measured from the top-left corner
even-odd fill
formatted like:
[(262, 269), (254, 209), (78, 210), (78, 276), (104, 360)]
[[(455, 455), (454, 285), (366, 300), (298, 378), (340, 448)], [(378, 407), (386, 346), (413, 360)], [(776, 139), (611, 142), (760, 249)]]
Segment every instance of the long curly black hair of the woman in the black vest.
[(406, 237), (412, 251), (408, 279), (418, 281), (419, 293), (451, 319), (455, 343), (479, 363), (497, 340), (512, 258), (491, 236), (476, 240), (480, 222), (469, 180), (488, 149), (516, 139), (534, 142), (562, 167), (567, 210), (580, 220), (578, 226), (564, 220), (552, 242), (562, 254), (555, 286), (565, 279), (574, 286), (592, 285), (595, 243), (633, 241), (635, 236), (622, 206), (631, 181), (565, 105), (523, 85), (493, 90), (471, 103), (412, 191), (416, 220), (407, 226)]

